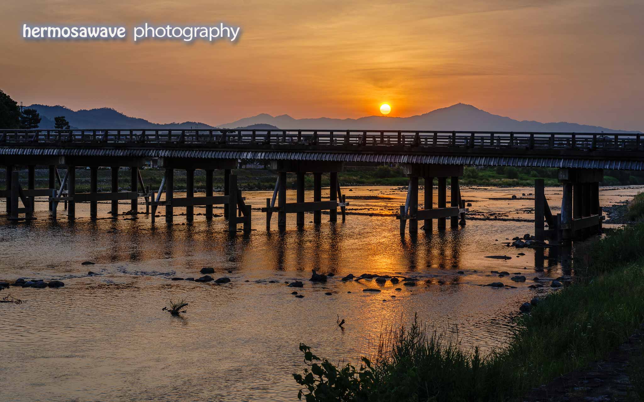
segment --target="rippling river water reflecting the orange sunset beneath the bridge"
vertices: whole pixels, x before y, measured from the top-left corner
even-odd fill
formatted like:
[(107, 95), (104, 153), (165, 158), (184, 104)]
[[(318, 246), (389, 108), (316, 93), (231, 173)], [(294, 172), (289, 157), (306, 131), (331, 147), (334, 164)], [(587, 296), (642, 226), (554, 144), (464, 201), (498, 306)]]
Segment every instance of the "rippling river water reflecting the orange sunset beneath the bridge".
[[(415, 239), (408, 233), (401, 237), (390, 216), (404, 204), (404, 188), (351, 190), (343, 188), (350, 202), (345, 222), (339, 217), (328, 223), (323, 215), (314, 228), (307, 214), (305, 230), (298, 232), (289, 214), (287, 231), (280, 234), (276, 214), (267, 232), (265, 214), (254, 210), (251, 235), (232, 238), (223, 217), (207, 223), (197, 215), (186, 224), (182, 208), (175, 208), (174, 224), (160, 217), (154, 227), (148, 215), (111, 219), (108, 203), (99, 204), (101, 219), (95, 222), (89, 205), (79, 204), (73, 224), (62, 205), (53, 223), (44, 200), (36, 203), (39, 219), (30, 224), (10, 224), (3, 217), (0, 280), (59, 279), (66, 285), (0, 291), (0, 297), (24, 300), (0, 304), (0, 400), (295, 401), (298, 386), (291, 373), (304, 367), (299, 342), (332, 361), (355, 361), (374, 352), (390, 327), (408, 324), (418, 313), (427, 325), (457, 333), (463, 347), (489, 351), (507, 341), (520, 304), (550, 291), (529, 289), (531, 279), (562, 274), (554, 253), (504, 244), (533, 233), (532, 188), (464, 187), (474, 219), (456, 230), (448, 221), (443, 232), (434, 224), (431, 235), (419, 232)], [(620, 203), (641, 191), (602, 187), (600, 203)], [(270, 194), (246, 192), (246, 203), (264, 206)], [(546, 196), (556, 213), (561, 188), (546, 188)], [(288, 197), (295, 199), (294, 192)], [(129, 210), (129, 201), (119, 207)], [(203, 212), (195, 207), (196, 214)], [(84, 261), (95, 265), (81, 265)], [(170, 280), (200, 277), (204, 267), (231, 282)], [(539, 267), (545, 271), (536, 271)], [(335, 276), (313, 284), (312, 269)], [(100, 275), (89, 276), (89, 270)], [(491, 270), (528, 280), (500, 279)], [(421, 281), (415, 287), (342, 282), (348, 273), (399, 273)], [(303, 280), (304, 288), (285, 286), (293, 280)], [(498, 281), (516, 288), (478, 286)], [(294, 297), (294, 290), (305, 297)], [(162, 311), (171, 298), (185, 298), (187, 313), (175, 317)], [(337, 326), (338, 317), (345, 329)]]

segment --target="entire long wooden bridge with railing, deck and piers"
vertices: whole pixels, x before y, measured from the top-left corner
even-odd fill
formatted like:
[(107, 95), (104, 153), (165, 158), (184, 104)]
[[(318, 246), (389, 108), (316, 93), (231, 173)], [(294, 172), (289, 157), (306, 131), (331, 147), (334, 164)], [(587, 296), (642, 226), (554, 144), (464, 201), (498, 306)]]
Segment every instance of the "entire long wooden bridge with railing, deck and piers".
[[(7, 197), (10, 219), (29, 219), (33, 208), (30, 199), (48, 196), (52, 214), (59, 202), (68, 203), (68, 217), (74, 218), (76, 202), (91, 203), (91, 217), (96, 216), (97, 201), (112, 201), (112, 213), (118, 213), (118, 200), (130, 199), (131, 212), (137, 213), (138, 197), (146, 197), (146, 210), (152, 217), (158, 206), (166, 207), (166, 221), (171, 222), (173, 208), (185, 206), (187, 220), (193, 219), (193, 206), (205, 205), (207, 219), (212, 218), (212, 205), (223, 204), (229, 219), (229, 230), (243, 223), (250, 230), (251, 208), (234, 183), (232, 170), (238, 160), (269, 161), (278, 171), (273, 197), (267, 199), (262, 211), (270, 217), (278, 213), (278, 227), (285, 228), (288, 213), (297, 215), (298, 227), (304, 224), (304, 213), (314, 212), (314, 223), (320, 223), (321, 211), (328, 210), (330, 221), (336, 221), (337, 208), (348, 205), (337, 182), (337, 172), (347, 162), (395, 163), (402, 165), (410, 177), (406, 205), (401, 206), (398, 219), (401, 233), (407, 221), (409, 230), (432, 229), (433, 219), (438, 227), (464, 224), (467, 209), (462, 203), (459, 177), (463, 167), (513, 166), (551, 167), (560, 169), (564, 183), (564, 201), (560, 216), (554, 216), (542, 196), (543, 186), (536, 183), (535, 234), (537, 237), (570, 239), (589, 234), (601, 227), (598, 183), (602, 169), (644, 170), (644, 147), (641, 134), (591, 132), (491, 132), (491, 131), (378, 131), (378, 130), (229, 130), (229, 129), (72, 129), (72, 130), (0, 130), (0, 165), (6, 167)], [(158, 159), (166, 175), (158, 191), (145, 190), (138, 168), (146, 160)], [(28, 188), (17, 183), (15, 165), (26, 165), (29, 171)], [(48, 188), (33, 188), (35, 165), (50, 166)], [(57, 166), (68, 169), (64, 178)], [(90, 167), (91, 191), (75, 192), (76, 167)], [(98, 167), (112, 167), (112, 191), (96, 192)], [(118, 168), (130, 167), (131, 191), (118, 192)], [(185, 199), (173, 197), (173, 171), (187, 172)], [(206, 196), (194, 197), (195, 169), (206, 172)], [(225, 195), (213, 197), (213, 170), (225, 172)], [(304, 177), (314, 175), (314, 201), (304, 202)], [(328, 201), (321, 200), (321, 174), (330, 173), (331, 189)], [(286, 175), (297, 174), (296, 203), (287, 203)], [(231, 180), (232, 178), (232, 180)], [(426, 209), (418, 210), (419, 178), (425, 183), (438, 179), (438, 208), (431, 208), (433, 188), (426, 186)], [(446, 205), (447, 178), (450, 178), (450, 206)], [(12, 190), (15, 183), (15, 190)], [(57, 183), (57, 185), (56, 185)], [(210, 183), (210, 185), (208, 185)], [(139, 187), (142, 192), (139, 192)], [(160, 196), (165, 192), (166, 199)], [(23, 201), (19, 208), (18, 199)], [(275, 206), (276, 199), (278, 206)], [(12, 205), (15, 210), (12, 212)], [(237, 209), (242, 216), (238, 216)], [(18, 217), (17, 214), (25, 214)], [(460, 220), (459, 220), (460, 219)], [(544, 219), (549, 230), (544, 230)]]

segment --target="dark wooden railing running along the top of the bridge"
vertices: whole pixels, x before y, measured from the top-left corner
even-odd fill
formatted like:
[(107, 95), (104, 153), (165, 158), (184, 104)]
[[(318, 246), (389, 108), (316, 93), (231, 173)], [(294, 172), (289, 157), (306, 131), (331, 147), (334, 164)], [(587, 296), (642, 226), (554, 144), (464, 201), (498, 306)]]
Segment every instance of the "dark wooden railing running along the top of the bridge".
[(493, 149), (585, 149), (641, 151), (641, 134), (594, 132), (377, 131), (377, 130), (0, 130), (0, 146), (16, 143), (71, 145), (119, 143), (327, 145)]

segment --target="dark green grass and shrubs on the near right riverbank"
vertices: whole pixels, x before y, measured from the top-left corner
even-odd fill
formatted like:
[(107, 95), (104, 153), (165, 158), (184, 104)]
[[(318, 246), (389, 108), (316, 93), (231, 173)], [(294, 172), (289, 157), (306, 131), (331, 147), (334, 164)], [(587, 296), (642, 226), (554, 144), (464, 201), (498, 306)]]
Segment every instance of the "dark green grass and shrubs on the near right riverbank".
[[(373, 379), (354, 394), (364, 395), (365, 401), (507, 401), (583, 369), (644, 322), (643, 244), (644, 224), (639, 224), (615, 230), (578, 252), (585, 256), (573, 262), (581, 279), (520, 316), (508, 345), (484, 356), (417, 321), (395, 331), (381, 343), (374, 363), (362, 368)], [(330, 400), (313, 395), (305, 395), (307, 401)]]

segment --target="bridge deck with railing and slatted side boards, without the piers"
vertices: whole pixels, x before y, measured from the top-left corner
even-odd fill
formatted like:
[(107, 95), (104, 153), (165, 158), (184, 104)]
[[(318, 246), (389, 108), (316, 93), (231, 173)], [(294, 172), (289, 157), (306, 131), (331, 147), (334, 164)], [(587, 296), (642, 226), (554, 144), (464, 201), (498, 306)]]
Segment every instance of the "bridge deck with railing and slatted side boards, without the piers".
[(0, 130), (0, 157), (242, 158), (644, 170), (643, 151), (641, 134), (622, 133)]

